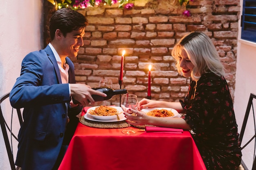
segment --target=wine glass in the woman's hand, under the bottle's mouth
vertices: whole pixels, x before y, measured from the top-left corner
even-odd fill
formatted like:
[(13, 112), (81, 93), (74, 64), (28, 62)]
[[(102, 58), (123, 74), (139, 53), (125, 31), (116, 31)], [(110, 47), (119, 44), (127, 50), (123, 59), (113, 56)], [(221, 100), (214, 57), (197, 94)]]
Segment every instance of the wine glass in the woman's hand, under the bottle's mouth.
[[(137, 95), (130, 95), (128, 93), (126, 95), (122, 95), (121, 104), (124, 105), (126, 109), (132, 108), (132, 106), (136, 107), (137, 103), (138, 103)], [(128, 129), (123, 130), (122, 132), (125, 134), (136, 133), (136, 131), (130, 129), (130, 124), (128, 124)]]

